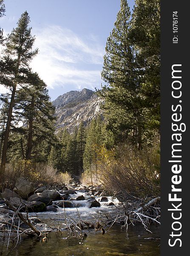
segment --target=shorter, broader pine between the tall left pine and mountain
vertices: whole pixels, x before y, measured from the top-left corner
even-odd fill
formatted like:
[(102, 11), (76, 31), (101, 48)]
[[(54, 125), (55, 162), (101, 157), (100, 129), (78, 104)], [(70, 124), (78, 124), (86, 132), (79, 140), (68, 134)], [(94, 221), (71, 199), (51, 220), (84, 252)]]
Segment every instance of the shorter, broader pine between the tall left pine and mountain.
[[(54, 136), (54, 107), (50, 102), (46, 84), (37, 73), (27, 73), (26, 87), (17, 91), (14, 119), (23, 122), (23, 134), (27, 137), (25, 159), (32, 157), (35, 146), (46, 141), (51, 145)], [(38, 155), (40, 152), (38, 152)]]

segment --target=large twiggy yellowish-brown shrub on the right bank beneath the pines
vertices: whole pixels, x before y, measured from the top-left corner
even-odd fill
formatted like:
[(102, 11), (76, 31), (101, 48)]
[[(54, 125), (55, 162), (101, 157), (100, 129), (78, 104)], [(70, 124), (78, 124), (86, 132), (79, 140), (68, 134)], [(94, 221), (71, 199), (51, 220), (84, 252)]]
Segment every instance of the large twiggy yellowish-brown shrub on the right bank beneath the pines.
[(142, 150), (121, 144), (112, 151), (105, 149), (103, 155), (98, 163), (98, 177), (106, 190), (124, 197), (160, 194), (159, 139)]

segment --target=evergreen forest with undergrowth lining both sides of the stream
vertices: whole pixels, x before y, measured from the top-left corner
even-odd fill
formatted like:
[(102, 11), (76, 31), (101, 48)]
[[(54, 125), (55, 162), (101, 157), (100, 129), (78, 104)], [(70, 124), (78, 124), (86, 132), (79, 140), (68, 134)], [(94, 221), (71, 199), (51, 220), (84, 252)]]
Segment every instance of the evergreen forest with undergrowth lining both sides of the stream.
[[(45, 82), (31, 70), (38, 49), (28, 12), (6, 36), (0, 30), (0, 183), (43, 182), (44, 173), (82, 176), (113, 194), (159, 195), (160, 2), (121, 0), (96, 94), (103, 117), (55, 134), (55, 109)], [(0, 17), (5, 14), (0, 0)], [(51, 169), (51, 171), (49, 171)], [(11, 182), (12, 179), (12, 182)], [(47, 182), (47, 180), (45, 180)]]

